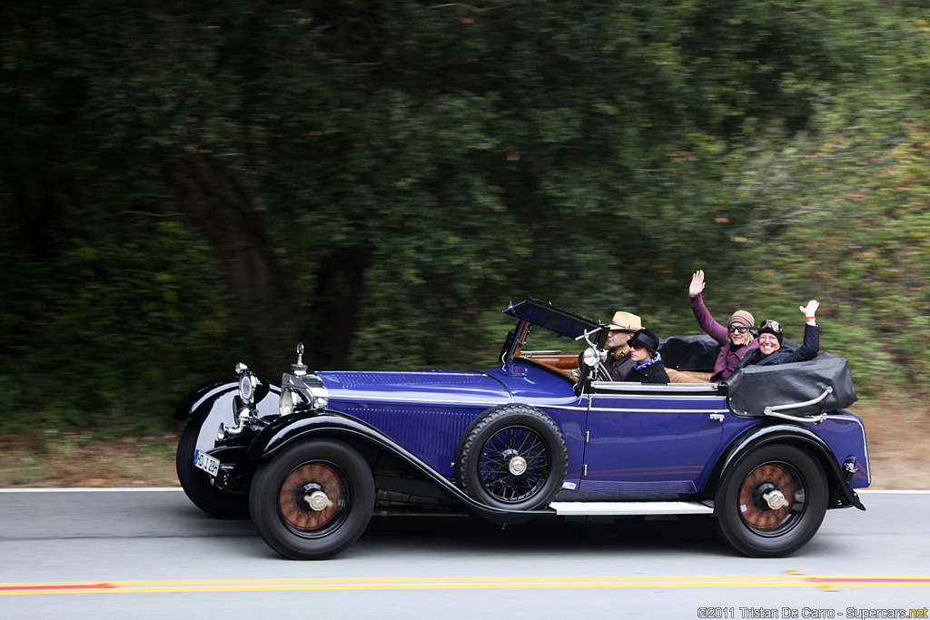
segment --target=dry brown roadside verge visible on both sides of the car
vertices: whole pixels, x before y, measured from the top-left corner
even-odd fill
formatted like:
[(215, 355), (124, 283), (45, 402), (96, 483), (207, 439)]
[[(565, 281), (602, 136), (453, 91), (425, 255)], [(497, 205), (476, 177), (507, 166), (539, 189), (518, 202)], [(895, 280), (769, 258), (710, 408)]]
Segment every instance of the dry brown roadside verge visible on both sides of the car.
[[(930, 489), (930, 404), (880, 397), (850, 411), (865, 422), (872, 489)], [(179, 486), (180, 430), (20, 427), (0, 438), (0, 488)]]

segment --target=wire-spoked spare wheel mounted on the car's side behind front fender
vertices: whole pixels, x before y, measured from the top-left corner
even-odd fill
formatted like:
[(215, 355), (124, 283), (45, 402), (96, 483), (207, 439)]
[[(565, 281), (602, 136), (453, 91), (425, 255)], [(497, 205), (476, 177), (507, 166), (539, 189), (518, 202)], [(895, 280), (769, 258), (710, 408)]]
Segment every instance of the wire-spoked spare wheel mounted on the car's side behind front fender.
[(565, 438), (550, 416), (503, 404), (472, 420), (456, 450), (456, 480), (487, 506), (532, 510), (549, 505), (568, 468)]

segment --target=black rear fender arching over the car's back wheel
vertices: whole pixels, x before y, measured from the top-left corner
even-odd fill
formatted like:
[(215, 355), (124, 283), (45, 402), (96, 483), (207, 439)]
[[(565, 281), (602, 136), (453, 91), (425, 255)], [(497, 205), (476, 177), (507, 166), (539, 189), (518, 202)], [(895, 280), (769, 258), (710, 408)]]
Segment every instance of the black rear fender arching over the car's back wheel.
[(846, 483), (843, 470), (840, 468), (840, 464), (837, 463), (830, 446), (810, 429), (792, 424), (754, 427), (741, 437), (738, 437), (731, 444), (730, 449), (723, 458), (718, 461), (717, 467), (714, 468), (714, 477), (718, 481), (718, 488), (720, 482), (724, 481), (724, 478), (740, 457), (748, 454), (751, 450), (771, 443), (801, 445), (817, 458), (817, 461), (823, 466), (830, 483), (830, 505), (828, 508), (855, 506), (860, 510), (866, 509), (859, 500), (857, 493), (850, 489), (849, 484)]

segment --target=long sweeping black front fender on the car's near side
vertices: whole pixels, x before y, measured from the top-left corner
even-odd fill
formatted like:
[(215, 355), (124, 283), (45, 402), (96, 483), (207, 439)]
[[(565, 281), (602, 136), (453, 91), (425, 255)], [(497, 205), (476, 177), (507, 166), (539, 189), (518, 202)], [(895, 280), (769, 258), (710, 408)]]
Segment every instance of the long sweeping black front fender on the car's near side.
[(286, 418), (279, 418), (259, 432), (255, 439), (249, 444), (246, 455), (249, 459), (258, 462), (272, 457), (293, 442), (299, 442), (310, 437), (339, 438), (340, 436), (368, 442), (380, 450), (386, 451), (401, 459), (421, 474), (424, 479), (434, 483), (447, 494), (465, 504), (468, 508), (472, 509), (472, 511), (478, 513), (479, 516), (483, 516), (489, 520), (507, 521), (502, 518), (508, 515), (526, 517), (554, 514), (554, 511), (551, 509), (506, 510), (485, 506), (485, 504), (475, 501), (472, 497), (466, 495), (465, 492), (459, 489), (452, 481), (447, 480), (445, 476), (421, 461), (417, 455), (411, 453), (404, 446), (392, 440), (379, 429), (375, 429), (355, 417), (335, 412), (326, 412), (324, 414), (294, 414)]

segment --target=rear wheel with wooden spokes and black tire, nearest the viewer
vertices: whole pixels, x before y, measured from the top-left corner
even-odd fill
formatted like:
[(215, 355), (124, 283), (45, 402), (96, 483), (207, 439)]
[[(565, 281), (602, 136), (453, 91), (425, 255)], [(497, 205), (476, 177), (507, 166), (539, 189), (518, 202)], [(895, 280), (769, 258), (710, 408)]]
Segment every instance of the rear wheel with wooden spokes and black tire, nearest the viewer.
[[(784, 497), (780, 508), (764, 497), (772, 492)], [(778, 558), (817, 534), (827, 495), (827, 477), (814, 457), (790, 445), (764, 446), (742, 456), (726, 474), (717, 491), (717, 525), (740, 553)]]

